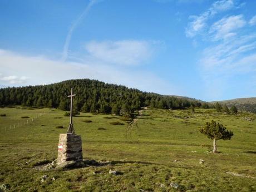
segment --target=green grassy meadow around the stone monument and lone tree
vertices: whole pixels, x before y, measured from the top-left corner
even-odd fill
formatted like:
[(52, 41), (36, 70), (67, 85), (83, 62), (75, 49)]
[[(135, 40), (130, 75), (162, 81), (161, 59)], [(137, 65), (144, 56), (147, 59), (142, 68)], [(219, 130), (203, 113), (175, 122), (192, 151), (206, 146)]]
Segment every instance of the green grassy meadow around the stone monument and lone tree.
[[(82, 137), (83, 158), (109, 163), (43, 171), (36, 165), (56, 159), (58, 136), (66, 132), (69, 117), (59, 110), (0, 109), (7, 115), (0, 117), (0, 185), (9, 184), (10, 191), (256, 191), (256, 179), (245, 177), (256, 178), (256, 115), (195, 112), (144, 110), (129, 132), (126, 125), (111, 125), (118, 116), (81, 113), (73, 124)], [(212, 141), (198, 131), (212, 119), (234, 132), (231, 140), (217, 141), (219, 154), (208, 152)], [(56, 129), (60, 125), (66, 129)], [(111, 175), (110, 169), (120, 174)], [(43, 175), (48, 178), (41, 183)]]

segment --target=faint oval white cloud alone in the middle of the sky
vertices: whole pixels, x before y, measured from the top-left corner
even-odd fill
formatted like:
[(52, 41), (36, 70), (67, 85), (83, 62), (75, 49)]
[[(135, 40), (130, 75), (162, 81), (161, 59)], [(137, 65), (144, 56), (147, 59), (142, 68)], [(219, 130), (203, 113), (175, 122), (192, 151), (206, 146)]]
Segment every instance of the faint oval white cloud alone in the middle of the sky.
[(91, 41), (85, 48), (90, 56), (118, 65), (138, 65), (152, 55), (151, 44), (146, 41)]

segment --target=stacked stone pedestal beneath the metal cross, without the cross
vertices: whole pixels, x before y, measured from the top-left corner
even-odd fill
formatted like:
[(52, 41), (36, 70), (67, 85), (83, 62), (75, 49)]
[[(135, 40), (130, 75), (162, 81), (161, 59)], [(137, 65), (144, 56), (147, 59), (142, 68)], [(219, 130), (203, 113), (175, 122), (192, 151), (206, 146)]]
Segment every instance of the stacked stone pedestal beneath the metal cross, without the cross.
[(60, 134), (57, 164), (67, 161), (82, 161), (82, 140), (80, 135)]

